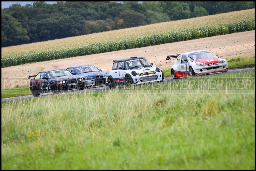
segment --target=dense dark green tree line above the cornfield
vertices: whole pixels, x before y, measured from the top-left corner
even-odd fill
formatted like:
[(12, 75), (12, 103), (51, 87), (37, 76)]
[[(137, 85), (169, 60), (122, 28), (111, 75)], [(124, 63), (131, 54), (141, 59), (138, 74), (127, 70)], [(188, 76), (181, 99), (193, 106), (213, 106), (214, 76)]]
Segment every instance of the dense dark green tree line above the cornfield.
[(34, 2), (2, 8), (2, 47), (251, 9), (255, 2)]

